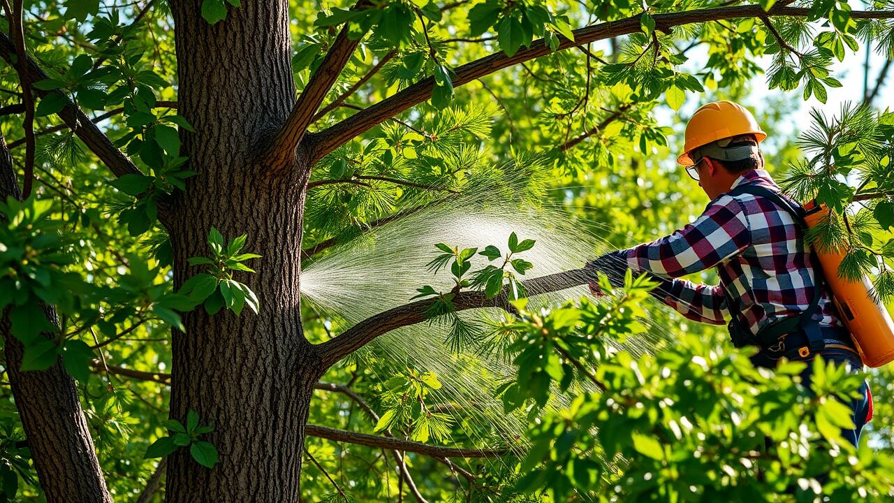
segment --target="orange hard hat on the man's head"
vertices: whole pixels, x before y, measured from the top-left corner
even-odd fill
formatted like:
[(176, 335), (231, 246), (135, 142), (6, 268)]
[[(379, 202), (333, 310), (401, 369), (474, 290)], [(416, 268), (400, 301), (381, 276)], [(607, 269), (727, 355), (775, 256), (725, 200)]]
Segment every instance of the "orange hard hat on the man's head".
[(755, 116), (746, 107), (731, 101), (714, 101), (696, 110), (686, 124), (686, 143), (677, 163), (692, 166), (695, 161), (689, 154), (712, 141), (723, 140), (740, 134), (754, 134), (760, 143), (767, 137)]

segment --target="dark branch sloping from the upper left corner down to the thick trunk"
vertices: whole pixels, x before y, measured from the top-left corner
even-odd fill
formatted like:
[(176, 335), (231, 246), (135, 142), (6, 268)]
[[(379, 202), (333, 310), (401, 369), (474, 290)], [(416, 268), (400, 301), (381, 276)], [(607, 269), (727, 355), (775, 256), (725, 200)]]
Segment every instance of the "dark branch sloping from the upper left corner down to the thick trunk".
[[(0, 57), (12, 64), (12, 58), (15, 55), (15, 47), (13, 42), (4, 33), (0, 33)], [(29, 80), (32, 82), (42, 81), (46, 79), (46, 73), (38, 66), (30, 56), (24, 64), (26, 72), (28, 72)], [(35, 94), (41, 98), (47, 94), (58, 91), (34, 90)], [(96, 124), (90, 121), (89, 116), (84, 114), (80, 107), (76, 107), (71, 100), (66, 98), (65, 107), (59, 112), (59, 118), (68, 125), (72, 131), (78, 135), (80, 141), (83, 141), (87, 147), (96, 154), (105, 166), (108, 166), (115, 176), (128, 174), (140, 174), (139, 168), (133, 164), (130, 158), (125, 156), (121, 150), (117, 149), (112, 141), (109, 140), (105, 133), (99, 130)]]

